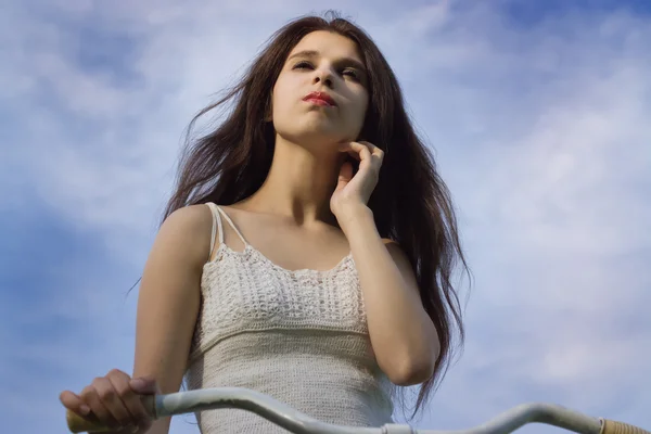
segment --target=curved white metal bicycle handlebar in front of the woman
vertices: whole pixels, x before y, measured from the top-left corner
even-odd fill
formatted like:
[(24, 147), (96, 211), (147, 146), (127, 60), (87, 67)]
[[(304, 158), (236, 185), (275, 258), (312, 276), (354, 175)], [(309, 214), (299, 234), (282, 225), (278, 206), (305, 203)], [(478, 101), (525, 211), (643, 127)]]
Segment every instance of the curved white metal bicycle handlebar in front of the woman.
[[(143, 397), (143, 403), (154, 419), (220, 408), (248, 410), (295, 434), (507, 434), (533, 422), (580, 434), (651, 434), (637, 426), (591, 418), (561, 406), (542, 403), (513, 407), (482, 425), (461, 431), (414, 430), (409, 425), (391, 423), (381, 427), (334, 425), (312, 419), (268, 395), (240, 387), (150, 395)], [(81, 417), (69, 410), (67, 424), (73, 433), (111, 431), (92, 414)]]

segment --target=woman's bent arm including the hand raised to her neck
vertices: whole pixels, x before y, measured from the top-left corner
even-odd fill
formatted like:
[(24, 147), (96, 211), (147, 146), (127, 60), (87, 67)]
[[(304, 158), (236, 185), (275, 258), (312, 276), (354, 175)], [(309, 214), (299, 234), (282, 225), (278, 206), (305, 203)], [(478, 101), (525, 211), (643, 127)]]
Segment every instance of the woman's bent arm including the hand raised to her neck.
[(350, 244), (378, 365), (395, 384), (422, 383), (434, 372), (438, 334), (409, 260), (395, 243), (380, 237), (367, 206), (384, 152), (366, 141), (341, 143), (340, 152), (358, 159), (359, 169), (354, 174), (350, 163), (343, 163), (330, 208)]

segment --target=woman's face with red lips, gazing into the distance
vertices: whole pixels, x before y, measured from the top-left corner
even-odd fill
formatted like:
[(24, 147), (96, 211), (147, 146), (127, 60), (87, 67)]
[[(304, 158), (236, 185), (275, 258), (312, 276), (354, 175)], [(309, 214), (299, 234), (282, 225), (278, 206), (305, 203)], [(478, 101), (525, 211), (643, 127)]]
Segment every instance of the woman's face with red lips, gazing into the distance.
[(273, 127), (284, 139), (310, 148), (358, 140), (368, 101), (357, 44), (339, 34), (314, 31), (290, 52), (273, 86)]

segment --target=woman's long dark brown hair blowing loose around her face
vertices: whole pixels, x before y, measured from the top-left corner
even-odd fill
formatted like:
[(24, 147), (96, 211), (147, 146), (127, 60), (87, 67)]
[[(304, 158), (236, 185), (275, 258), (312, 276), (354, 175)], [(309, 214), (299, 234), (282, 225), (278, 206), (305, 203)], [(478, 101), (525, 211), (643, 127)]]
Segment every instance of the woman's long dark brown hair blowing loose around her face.
[[(458, 265), (465, 271), (468, 266), (449, 191), (410, 123), (396, 76), (362, 29), (333, 12), (328, 15), (301, 17), (283, 26), (241, 81), (192, 119), (176, 190), (164, 218), (183, 206), (205, 202), (230, 205), (257, 191), (269, 173), (275, 148), (276, 132), (266, 122), (271, 90), (290, 51), (316, 30), (334, 31), (355, 41), (368, 71), (369, 108), (360, 136), (385, 152), (368, 206), (380, 234), (397, 242), (409, 257), (424, 309), (441, 341), (434, 375), (420, 387), (413, 418), (445, 374), (455, 337), (459, 344), (463, 342), (461, 307), (452, 279)], [(190, 132), (199, 118), (229, 101), (232, 108), (218, 127), (193, 140)]]

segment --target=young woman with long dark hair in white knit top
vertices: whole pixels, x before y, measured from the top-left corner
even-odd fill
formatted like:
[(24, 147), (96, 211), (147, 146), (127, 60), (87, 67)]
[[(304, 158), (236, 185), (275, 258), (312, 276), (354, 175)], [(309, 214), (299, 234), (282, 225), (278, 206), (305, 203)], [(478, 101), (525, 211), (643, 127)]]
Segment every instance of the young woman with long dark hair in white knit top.
[[(422, 383), (418, 410), (463, 334), (450, 280), (465, 263), (384, 56), (348, 21), (299, 18), (199, 116), (231, 100), (181, 162), (142, 278), (132, 378), (113, 370), (62, 403), (153, 434), (169, 420), (152, 423), (139, 395), (183, 378), (358, 426), (391, 423), (396, 386)], [(242, 410), (197, 419), (204, 434), (284, 432)]]

